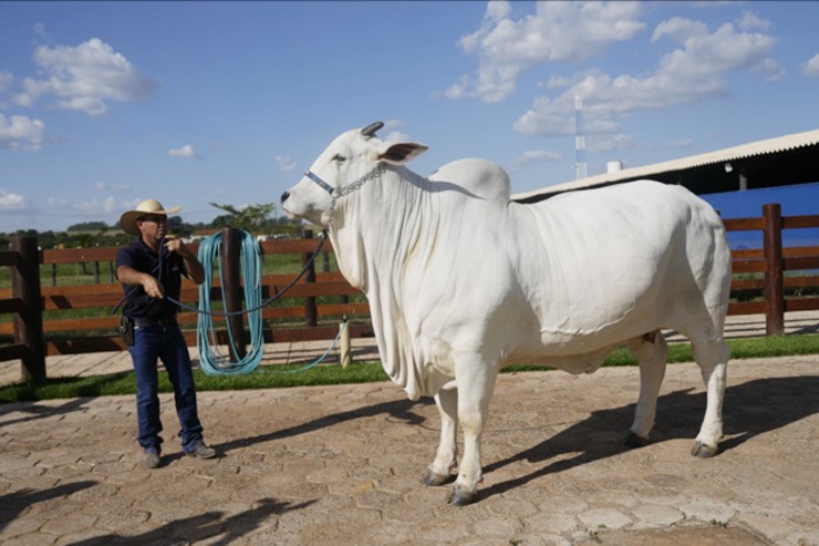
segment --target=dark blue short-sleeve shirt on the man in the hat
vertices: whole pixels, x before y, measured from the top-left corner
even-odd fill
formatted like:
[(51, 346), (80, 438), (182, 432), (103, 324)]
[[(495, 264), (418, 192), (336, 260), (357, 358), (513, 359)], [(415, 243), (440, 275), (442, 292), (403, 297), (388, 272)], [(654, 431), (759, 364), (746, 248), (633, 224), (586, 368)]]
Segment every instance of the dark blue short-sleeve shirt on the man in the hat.
[[(142, 238), (138, 238), (116, 253), (116, 267), (128, 266), (139, 272), (153, 275), (163, 286), (165, 296), (178, 300), (179, 290), (182, 289), (182, 275), (188, 276), (185, 262), (182, 256), (169, 253), (165, 247), (160, 251), (162, 256), (152, 250)], [(162, 271), (159, 270), (160, 265)], [(123, 312), (132, 319), (160, 319), (170, 317), (177, 310), (177, 306), (167, 298), (155, 299), (148, 297), (141, 285), (123, 284), (123, 291), (126, 297)]]

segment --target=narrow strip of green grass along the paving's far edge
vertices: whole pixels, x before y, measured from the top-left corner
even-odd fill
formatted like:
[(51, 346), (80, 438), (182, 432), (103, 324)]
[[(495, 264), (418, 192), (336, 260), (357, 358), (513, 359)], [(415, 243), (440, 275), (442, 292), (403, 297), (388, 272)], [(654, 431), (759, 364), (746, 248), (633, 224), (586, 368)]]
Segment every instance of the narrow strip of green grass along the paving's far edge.
[[(728, 340), (732, 359), (771, 358), (799, 354), (819, 354), (819, 334), (782, 336), (776, 338), (748, 338)], [(674, 343), (670, 347), (668, 362), (690, 362), (691, 347)], [(2, 364), (2, 363), (0, 363)], [(604, 365), (635, 365), (631, 354), (620, 349), (614, 351)], [(281, 389), (288, 387), (330, 385), (345, 383), (369, 383), (387, 381), (379, 362), (353, 363), (346, 369), (338, 364), (324, 364), (300, 372), (299, 365), (263, 367), (243, 375), (207, 375), (195, 370), (194, 375), (199, 392), (232, 391), (243, 389)], [(546, 367), (512, 365), (505, 373), (521, 371), (545, 371)], [(165, 373), (159, 374), (159, 389), (170, 392), (170, 383)], [(89, 378), (54, 378), (42, 384), (15, 383), (0, 387), (0, 402), (21, 402), (30, 400), (65, 399), (79, 396), (106, 396), (134, 394), (133, 372), (121, 372)]]

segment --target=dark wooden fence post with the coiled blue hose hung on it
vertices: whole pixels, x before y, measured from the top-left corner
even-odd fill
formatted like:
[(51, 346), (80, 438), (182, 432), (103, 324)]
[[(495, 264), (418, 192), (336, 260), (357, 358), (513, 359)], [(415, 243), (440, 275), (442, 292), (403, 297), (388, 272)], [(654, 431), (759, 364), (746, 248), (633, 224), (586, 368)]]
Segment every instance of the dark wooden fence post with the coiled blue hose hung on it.
[[(235, 227), (226, 227), (221, 230), (221, 291), (225, 295), (225, 311), (241, 311), (241, 240), (239, 230)], [(245, 279), (249, 281), (250, 279)], [(247, 354), (245, 347), (245, 318), (242, 315), (229, 315), (227, 324), (230, 328), (232, 344), (230, 344), (230, 358), (239, 362)]]

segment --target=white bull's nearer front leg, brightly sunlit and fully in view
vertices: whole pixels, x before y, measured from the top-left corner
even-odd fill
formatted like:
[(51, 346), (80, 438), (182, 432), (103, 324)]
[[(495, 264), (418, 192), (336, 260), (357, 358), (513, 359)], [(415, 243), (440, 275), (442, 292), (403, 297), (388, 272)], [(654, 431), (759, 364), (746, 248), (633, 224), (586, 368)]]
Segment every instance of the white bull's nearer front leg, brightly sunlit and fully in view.
[(481, 480), (480, 440), (484, 434), (489, 400), (495, 390), (497, 369), (479, 356), (457, 359), (455, 378), (458, 385), (458, 421), (464, 431), (464, 457), (447, 501), (463, 506), (475, 501)]

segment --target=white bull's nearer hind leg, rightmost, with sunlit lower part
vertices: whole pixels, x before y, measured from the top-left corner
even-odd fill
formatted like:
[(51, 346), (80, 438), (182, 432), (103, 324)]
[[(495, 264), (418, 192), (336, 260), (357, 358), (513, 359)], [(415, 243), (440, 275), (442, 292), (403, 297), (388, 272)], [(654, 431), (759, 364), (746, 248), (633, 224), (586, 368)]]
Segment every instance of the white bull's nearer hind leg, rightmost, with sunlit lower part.
[(709, 457), (716, 455), (717, 442), (723, 435), (723, 399), (730, 351), (723, 338), (707, 342), (692, 340), (691, 347), (706, 390), (705, 419), (691, 454)]

